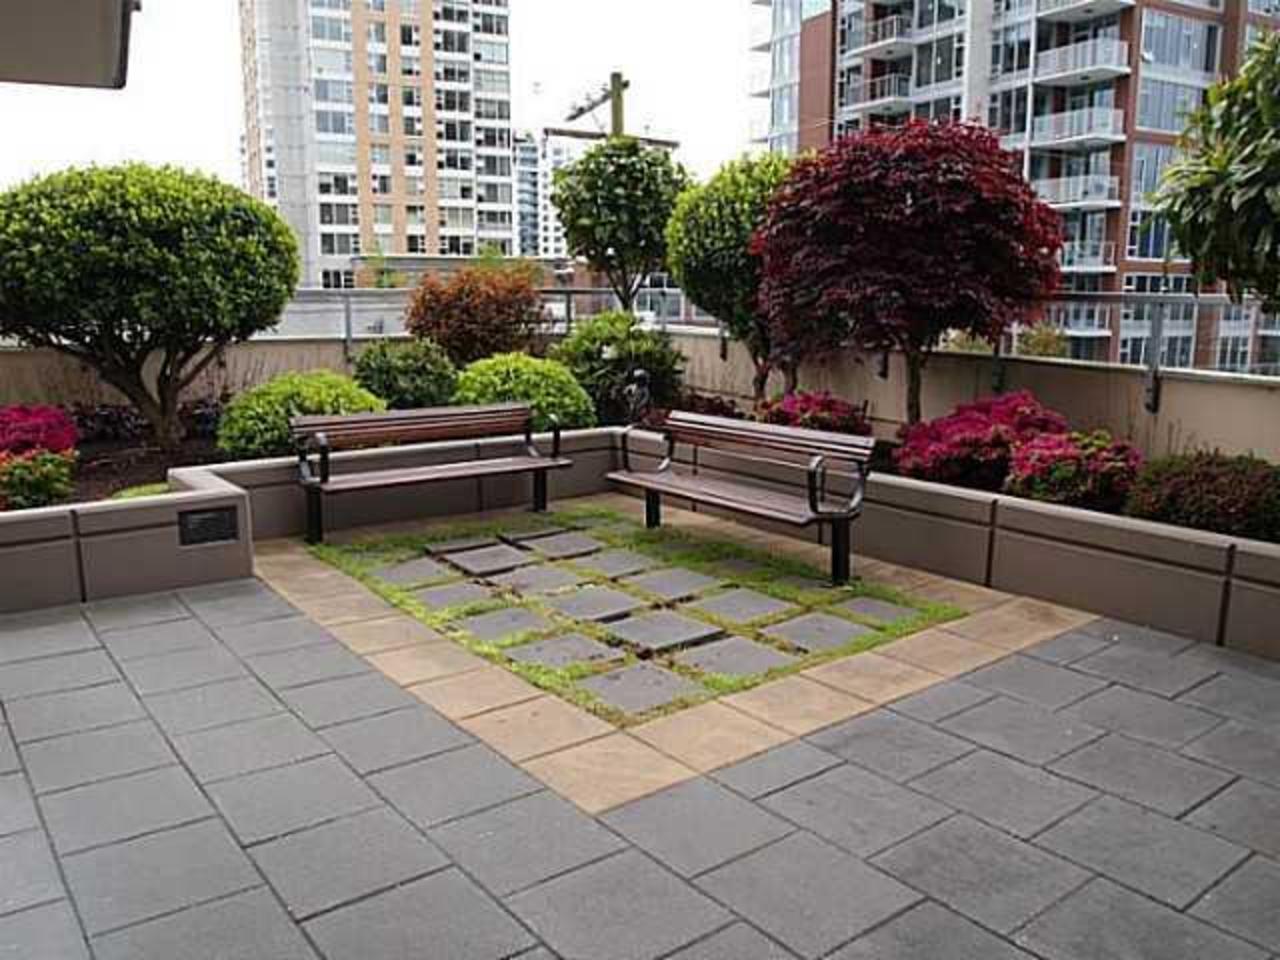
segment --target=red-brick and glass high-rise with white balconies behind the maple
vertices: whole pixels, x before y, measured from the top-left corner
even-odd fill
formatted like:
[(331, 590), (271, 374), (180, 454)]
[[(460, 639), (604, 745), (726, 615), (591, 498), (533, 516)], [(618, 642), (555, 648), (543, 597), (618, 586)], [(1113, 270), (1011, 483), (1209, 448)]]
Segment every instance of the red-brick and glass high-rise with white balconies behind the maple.
[[(806, 55), (832, 65), (832, 136), (909, 116), (980, 120), (1062, 214), (1065, 296), (1050, 319), (1071, 356), (1143, 364), (1161, 311), (1165, 365), (1280, 372), (1280, 317), (1197, 300), (1151, 205), (1187, 113), (1280, 27), (1280, 0), (751, 1), (772, 13), (756, 46), (771, 55), (769, 83), (753, 91), (771, 99), (760, 143), (819, 145)], [(828, 51), (809, 54), (828, 17)]]

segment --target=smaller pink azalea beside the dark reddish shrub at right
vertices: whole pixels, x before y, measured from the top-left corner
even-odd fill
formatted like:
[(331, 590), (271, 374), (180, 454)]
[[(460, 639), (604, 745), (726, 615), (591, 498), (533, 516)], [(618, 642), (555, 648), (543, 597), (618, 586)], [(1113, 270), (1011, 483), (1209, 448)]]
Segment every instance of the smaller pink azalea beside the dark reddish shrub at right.
[(1106, 430), (1041, 434), (1014, 448), (1005, 490), (1015, 497), (1120, 512), (1142, 454)]

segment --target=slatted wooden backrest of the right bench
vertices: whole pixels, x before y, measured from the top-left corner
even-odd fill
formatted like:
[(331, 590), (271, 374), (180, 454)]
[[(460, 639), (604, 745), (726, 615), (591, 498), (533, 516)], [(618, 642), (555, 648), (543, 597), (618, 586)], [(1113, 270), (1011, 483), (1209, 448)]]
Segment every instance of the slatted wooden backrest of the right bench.
[(756, 424), (705, 413), (673, 411), (666, 422), (667, 434), (676, 443), (712, 447), (736, 456), (768, 454), (769, 457), (809, 458), (823, 454), (829, 460), (868, 463), (876, 449), (872, 436), (805, 430), (776, 424)]

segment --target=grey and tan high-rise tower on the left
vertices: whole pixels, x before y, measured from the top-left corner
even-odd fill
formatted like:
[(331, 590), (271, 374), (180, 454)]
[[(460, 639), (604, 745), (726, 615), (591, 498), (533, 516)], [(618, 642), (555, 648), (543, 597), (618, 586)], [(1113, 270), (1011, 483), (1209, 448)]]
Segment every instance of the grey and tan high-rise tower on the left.
[(507, 0), (241, 0), (250, 191), (303, 285), (351, 257), (515, 253)]

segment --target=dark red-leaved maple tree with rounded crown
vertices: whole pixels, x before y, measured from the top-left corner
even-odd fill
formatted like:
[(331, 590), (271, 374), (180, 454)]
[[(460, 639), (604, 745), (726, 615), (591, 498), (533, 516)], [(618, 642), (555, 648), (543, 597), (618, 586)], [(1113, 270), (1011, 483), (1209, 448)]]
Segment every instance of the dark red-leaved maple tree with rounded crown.
[(754, 250), (777, 362), (901, 351), (908, 421), (950, 329), (995, 342), (1057, 284), (1057, 214), (977, 124), (873, 128), (803, 157)]

